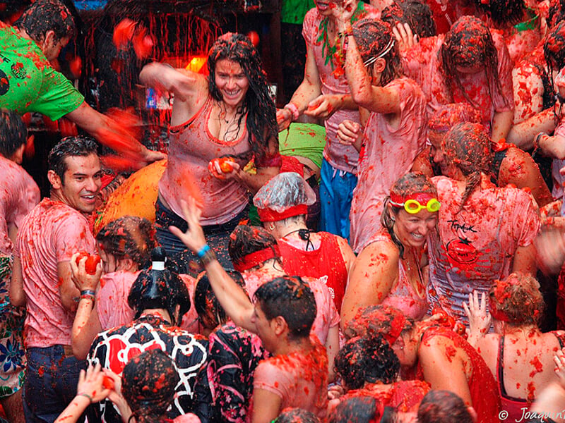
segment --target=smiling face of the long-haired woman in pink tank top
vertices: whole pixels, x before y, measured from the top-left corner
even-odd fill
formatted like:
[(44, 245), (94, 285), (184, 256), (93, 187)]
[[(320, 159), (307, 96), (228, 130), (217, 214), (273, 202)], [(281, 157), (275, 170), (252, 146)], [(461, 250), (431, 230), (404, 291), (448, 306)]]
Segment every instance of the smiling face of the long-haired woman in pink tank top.
[(227, 106), (241, 106), (249, 90), (249, 80), (239, 63), (229, 59), (218, 61), (214, 81)]

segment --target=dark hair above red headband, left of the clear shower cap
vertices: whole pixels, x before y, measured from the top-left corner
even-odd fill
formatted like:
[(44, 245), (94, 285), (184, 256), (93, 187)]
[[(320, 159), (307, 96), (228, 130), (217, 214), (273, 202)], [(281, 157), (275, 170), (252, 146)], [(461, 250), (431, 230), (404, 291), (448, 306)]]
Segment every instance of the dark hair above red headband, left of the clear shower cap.
[(227, 250), (232, 262), (239, 262), (252, 252), (274, 248), (275, 245), (277, 240), (266, 229), (260, 226), (238, 225), (230, 235)]

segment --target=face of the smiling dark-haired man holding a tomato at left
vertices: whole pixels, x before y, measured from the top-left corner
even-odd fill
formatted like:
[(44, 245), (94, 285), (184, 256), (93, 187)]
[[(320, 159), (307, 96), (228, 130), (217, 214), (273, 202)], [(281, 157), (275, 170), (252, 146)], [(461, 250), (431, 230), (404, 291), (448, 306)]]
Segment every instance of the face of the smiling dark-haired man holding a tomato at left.
[[(55, 176), (53, 188), (58, 200), (82, 213), (92, 213), (100, 191), (102, 170), (97, 154), (70, 156), (65, 159), (67, 169), (63, 180)], [(57, 183), (59, 181), (59, 183)]]

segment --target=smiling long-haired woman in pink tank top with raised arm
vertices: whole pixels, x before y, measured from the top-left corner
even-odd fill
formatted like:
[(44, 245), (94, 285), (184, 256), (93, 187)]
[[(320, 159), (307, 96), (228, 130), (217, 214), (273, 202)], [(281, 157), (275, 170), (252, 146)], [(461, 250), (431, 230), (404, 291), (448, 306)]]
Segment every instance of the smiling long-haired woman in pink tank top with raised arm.
[[(174, 94), (155, 226), (169, 257), (182, 253), (186, 247), (168, 227), (186, 231), (180, 201), (196, 198), (203, 205), (200, 223), (210, 247), (222, 264), (231, 266), (225, 247), (246, 215), (249, 192), (280, 168), (276, 111), (260, 55), (245, 35), (227, 33), (216, 40), (208, 54), (208, 73), (162, 63), (141, 71), (141, 82)], [(244, 171), (252, 158), (256, 173)], [(182, 262), (198, 261), (189, 253)]]

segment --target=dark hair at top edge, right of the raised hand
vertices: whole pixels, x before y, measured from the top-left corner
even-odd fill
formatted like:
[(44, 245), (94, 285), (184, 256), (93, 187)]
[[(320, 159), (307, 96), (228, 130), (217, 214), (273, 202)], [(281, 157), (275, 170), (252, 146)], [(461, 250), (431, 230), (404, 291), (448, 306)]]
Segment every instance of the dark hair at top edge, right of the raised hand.
[(437, 34), (434, 14), (424, 1), (396, 1), (383, 9), (381, 20), (393, 27), (397, 23), (408, 23), (418, 38), (434, 37)]

